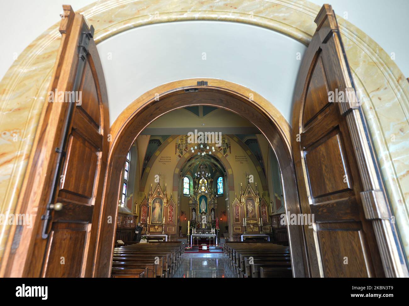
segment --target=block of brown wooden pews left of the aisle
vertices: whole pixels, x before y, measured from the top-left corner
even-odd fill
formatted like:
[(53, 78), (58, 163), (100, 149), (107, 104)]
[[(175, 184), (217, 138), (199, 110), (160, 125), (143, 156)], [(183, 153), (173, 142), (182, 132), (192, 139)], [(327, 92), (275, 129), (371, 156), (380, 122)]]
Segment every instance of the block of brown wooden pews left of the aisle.
[(180, 241), (115, 247), (111, 277), (171, 277), (182, 263), (183, 252)]

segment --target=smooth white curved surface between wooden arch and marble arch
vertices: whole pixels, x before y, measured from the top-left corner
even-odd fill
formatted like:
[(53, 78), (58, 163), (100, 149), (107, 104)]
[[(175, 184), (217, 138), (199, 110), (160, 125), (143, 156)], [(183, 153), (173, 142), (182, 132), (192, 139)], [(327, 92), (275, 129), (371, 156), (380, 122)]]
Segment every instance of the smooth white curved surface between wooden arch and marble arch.
[[(137, 27), (98, 44), (110, 121), (144, 92), (189, 78), (224, 79), (264, 96), (290, 121), (304, 45), (271, 30), (222, 21)], [(203, 60), (206, 53), (206, 60)], [(112, 58), (112, 59), (110, 59)], [(113, 106), (113, 107), (112, 107)]]

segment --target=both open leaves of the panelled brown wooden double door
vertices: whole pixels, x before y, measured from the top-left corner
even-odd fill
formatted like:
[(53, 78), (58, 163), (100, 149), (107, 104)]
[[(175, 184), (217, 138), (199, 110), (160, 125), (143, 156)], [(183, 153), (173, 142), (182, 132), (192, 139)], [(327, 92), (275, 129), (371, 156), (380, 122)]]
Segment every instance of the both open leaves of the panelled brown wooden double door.
[[(308, 270), (314, 277), (382, 277), (374, 229), (360, 196), (364, 187), (358, 162), (364, 161), (357, 161), (355, 136), (345, 115), (357, 106), (353, 101), (342, 107), (328, 102), (330, 91), (353, 90), (329, 6), (321, 9), (316, 23), (295, 89), (292, 144), (301, 209), (315, 217), (313, 234), (306, 234)], [(115, 216), (107, 225), (102, 207), (109, 148), (108, 100), (92, 27), (82, 15), (64, 6), (60, 32), (51, 88), (79, 91), (82, 101), (48, 106), (36, 153), (39, 162), (48, 161), (42, 168), (44, 189), (39, 191), (38, 212), (43, 220), (36, 222), (24, 275), (91, 277), (99, 241), (111, 239), (101, 237), (101, 228), (113, 226), (115, 233)], [(340, 111), (343, 109), (345, 112)], [(121, 173), (121, 169), (111, 171)], [(35, 178), (36, 172), (33, 174)], [(99, 268), (106, 270), (101, 274), (109, 275), (108, 265)]]

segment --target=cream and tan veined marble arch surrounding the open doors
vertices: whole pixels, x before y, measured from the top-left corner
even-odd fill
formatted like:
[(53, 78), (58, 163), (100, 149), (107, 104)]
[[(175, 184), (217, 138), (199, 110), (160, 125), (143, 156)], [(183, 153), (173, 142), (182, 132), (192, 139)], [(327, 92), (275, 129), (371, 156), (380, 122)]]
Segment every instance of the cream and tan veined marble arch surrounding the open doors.
[[(320, 7), (294, 0), (110, 0), (79, 12), (99, 43), (127, 29), (183, 20), (224, 20), (265, 27), (308, 45)], [(398, 229), (409, 258), (409, 83), (389, 55), (360, 29), (337, 16), (362, 108)], [(43, 110), (61, 36), (56, 24), (20, 54), (0, 83), (0, 213), (16, 212), (17, 198)], [(17, 134), (18, 141), (12, 140)], [(0, 228), (0, 259), (10, 227)], [(8, 240), (11, 243), (12, 239)], [(0, 273), (1, 274), (1, 273)]]

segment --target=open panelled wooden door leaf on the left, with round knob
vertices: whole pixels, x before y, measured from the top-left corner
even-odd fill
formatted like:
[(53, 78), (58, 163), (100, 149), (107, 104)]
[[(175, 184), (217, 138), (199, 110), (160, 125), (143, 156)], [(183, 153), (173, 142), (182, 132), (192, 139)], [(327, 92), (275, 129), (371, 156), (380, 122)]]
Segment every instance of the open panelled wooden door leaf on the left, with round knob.
[(108, 100), (94, 31), (70, 6), (63, 9), (47, 114), (58, 121), (55, 162), (31, 258), (42, 265), (26, 274), (35, 277), (93, 275), (108, 155)]

